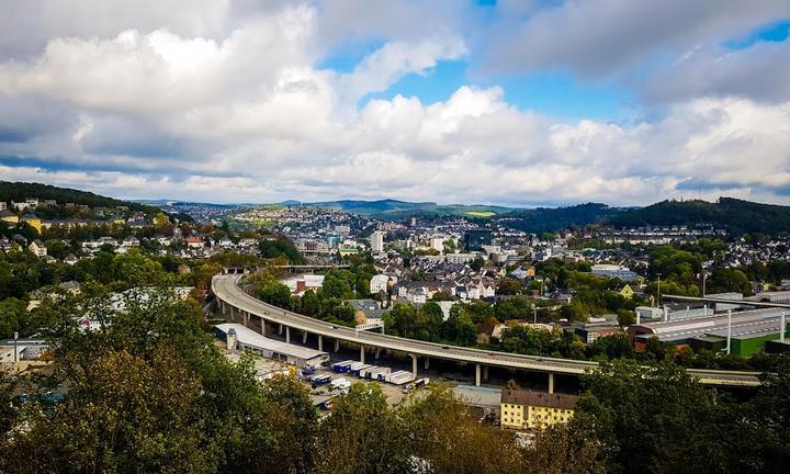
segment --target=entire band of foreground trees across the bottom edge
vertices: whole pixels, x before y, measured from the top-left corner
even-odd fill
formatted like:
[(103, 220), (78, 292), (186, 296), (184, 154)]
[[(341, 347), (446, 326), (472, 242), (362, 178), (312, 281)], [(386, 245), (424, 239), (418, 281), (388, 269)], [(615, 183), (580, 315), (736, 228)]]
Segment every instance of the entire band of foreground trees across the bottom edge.
[(354, 384), (319, 418), (304, 385), (261, 384), (249, 359), (224, 358), (198, 304), (166, 289), (79, 331), (75, 312), (108, 314), (93, 290), (43, 307), (52, 371), (0, 374), (0, 472), (781, 473), (790, 461), (787, 357), (740, 399), (670, 361), (605, 364), (583, 375), (569, 425), (524, 443), (442, 387), (393, 407)]

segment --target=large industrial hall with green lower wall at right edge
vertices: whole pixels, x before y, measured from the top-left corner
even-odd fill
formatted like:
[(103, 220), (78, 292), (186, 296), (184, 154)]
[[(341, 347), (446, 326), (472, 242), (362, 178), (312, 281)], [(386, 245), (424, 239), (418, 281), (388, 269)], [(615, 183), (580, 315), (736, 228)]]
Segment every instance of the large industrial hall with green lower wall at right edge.
[[(751, 309), (710, 316), (645, 323), (631, 326), (629, 335), (636, 349), (652, 337), (666, 345), (687, 345), (695, 350), (724, 351), (751, 357), (765, 350), (767, 341), (783, 341), (790, 336), (786, 309)], [(729, 343), (727, 343), (729, 340)]]

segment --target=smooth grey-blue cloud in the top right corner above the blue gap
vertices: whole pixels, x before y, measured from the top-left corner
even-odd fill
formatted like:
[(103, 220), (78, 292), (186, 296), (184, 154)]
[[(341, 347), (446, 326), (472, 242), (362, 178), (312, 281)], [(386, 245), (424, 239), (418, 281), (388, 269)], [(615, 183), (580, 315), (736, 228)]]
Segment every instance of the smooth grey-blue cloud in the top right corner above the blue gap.
[(609, 77), (653, 54), (682, 54), (788, 15), (786, 0), (567, 0), (523, 20), (504, 20), (487, 44), (484, 68)]

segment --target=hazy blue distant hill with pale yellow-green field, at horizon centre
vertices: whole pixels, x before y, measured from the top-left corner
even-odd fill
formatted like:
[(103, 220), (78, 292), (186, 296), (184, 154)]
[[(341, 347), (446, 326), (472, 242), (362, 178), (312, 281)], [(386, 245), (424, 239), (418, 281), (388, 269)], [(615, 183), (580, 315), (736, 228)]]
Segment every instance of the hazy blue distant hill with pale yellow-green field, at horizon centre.
[(407, 202), (397, 200), (379, 201), (325, 201), (300, 203), (298, 201), (284, 201), (281, 205), (302, 205), (306, 207), (321, 207), (362, 214), (381, 219), (402, 219), (411, 216), (464, 216), (490, 217), (493, 215), (512, 211), (511, 207), (489, 205), (437, 204), (433, 202)]

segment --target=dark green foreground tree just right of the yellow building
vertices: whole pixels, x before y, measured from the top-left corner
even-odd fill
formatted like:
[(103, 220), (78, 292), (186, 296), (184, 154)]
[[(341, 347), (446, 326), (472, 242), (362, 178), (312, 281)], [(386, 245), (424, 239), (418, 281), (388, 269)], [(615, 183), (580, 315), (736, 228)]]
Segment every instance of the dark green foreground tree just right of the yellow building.
[(682, 368), (619, 360), (582, 383), (573, 424), (598, 439), (610, 471), (727, 471), (718, 399)]

